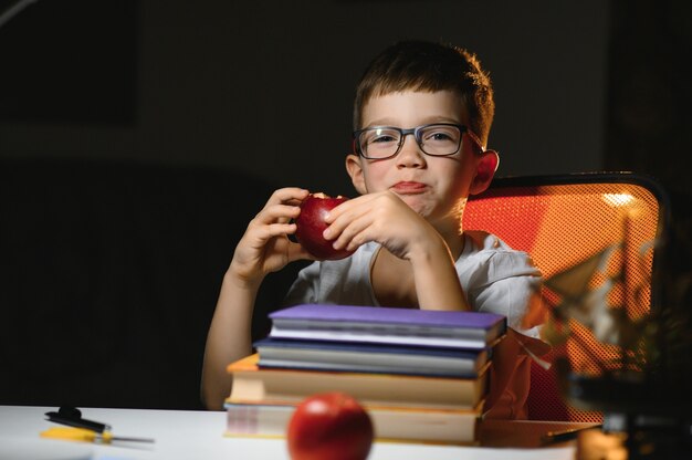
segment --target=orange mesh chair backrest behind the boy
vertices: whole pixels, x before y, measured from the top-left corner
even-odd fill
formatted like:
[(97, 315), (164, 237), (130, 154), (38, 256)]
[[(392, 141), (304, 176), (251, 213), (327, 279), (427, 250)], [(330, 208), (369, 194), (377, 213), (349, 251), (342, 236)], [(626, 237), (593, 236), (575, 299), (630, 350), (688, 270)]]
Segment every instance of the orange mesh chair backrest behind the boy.
[[(567, 291), (594, 292), (606, 279), (619, 280), (618, 286), (609, 290), (608, 304), (622, 306), (635, 318), (649, 312), (654, 297), (651, 274), (653, 242), (662, 222), (661, 197), (653, 180), (625, 172), (499, 178), (484, 194), (469, 199), (464, 229), (490, 231), (528, 252), (545, 280), (585, 268), (587, 284), (577, 285), (573, 276), (563, 283)], [(587, 265), (598, 254), (605, 257), (595, 273), (595, 265)], [(546, 305), (555, 307), (566, 294), (546, 288), (543, 295)], [(554, 348), (548, 362), (566, 356), (572, 369), (588, 373), (594, 357), (608, 362), (620, 356), (617, 346), (596, 339), (591, 328), (572, 323), (574, 337)], [(573, 407), (558, 388), (555, 367), (546, 370), (534, 363), (531, 419), (602, 419), (598, 411)]]

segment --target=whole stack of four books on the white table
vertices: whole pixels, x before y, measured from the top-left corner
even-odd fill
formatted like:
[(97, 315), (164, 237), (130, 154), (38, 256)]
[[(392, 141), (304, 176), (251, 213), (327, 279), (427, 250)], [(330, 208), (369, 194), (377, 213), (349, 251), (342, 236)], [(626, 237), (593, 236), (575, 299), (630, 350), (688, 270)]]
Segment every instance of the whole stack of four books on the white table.
[(258, 353), (232, 363), (227, 436), (285, 436), (306, 397), (343, 391), (380, 440), (473, 443), (492, 347), (492, 313), (297, 305), (270, 315)]

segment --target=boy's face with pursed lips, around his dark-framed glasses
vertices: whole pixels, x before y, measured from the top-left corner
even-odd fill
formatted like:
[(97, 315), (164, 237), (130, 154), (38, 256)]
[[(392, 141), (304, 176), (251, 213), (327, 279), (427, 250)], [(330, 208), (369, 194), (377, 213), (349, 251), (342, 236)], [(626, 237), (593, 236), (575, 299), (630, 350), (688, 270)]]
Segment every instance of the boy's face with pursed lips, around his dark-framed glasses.
[[(363, 107), (361, 119), (364, 128), (412, 128), (430, 123), (468, 125), (460, 98), (449, 91), (406, 91), (373, 97)], [(464, 134), (457, 154), (436, 157), (423, 154), (413, 135), (409, 135), (395, 157), (366, 159), (348, 155), (346, 169), (358, 192), (391, 190), (430, 222), (458, 226), (459, 210), (463, 209), (466, 197), (487, 187), (496, 166), (496, 154), (479, 155), (475, 153), (479, 148)], [(485, 158), (489, 155), (493, 158)], [(489, 166), (489, 161), (494, 163)]]

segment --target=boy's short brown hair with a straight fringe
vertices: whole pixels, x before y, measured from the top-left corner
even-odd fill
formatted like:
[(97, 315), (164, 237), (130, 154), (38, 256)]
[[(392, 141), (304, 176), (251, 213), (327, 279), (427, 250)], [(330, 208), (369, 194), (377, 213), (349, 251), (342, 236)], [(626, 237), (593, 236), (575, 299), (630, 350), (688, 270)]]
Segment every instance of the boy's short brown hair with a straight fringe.
[(475, 55), (450, 44), (403, 41), (377, 55), (356, 87), (354, 129), (360, 129), (363, 107), (375, 96), (402, 91), (452, 91), (469, 116), (469, 126), (487, 143), (495, 114), (490, 76)]

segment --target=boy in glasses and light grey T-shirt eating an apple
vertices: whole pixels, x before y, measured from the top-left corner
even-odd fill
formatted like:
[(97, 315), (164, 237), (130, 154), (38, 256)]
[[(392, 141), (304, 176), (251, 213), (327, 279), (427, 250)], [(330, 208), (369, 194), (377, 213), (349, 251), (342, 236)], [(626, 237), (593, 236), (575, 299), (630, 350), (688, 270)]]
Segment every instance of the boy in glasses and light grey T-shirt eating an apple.
[[(298, 274), (285, 305), (329, 303), (479, 310), (504, 314), (511, 332), (494, 354), (489, 417), (524, 418), (530, 362), (523, 343), (543, 318), (538, 270), (496, 237), (463, 232), (469, 195), (483, 191), (499, 157), (484, 148), (494, 115), (491, 82), (468, 52), (428, 42), (385, 50), (358, 84), (355, 151), (346, 170), (360, 194), (334, 208), (324, 237), (356, 250)], [(202, 397), (222, 407), (226, 366), (252, 353), (251, 320), (263, 278), (298, 259), (291, 220), (308, 195), (276, 190), (250, 222), (226, 273), (207, 339)]]

